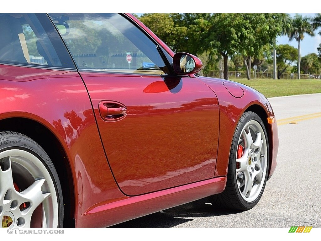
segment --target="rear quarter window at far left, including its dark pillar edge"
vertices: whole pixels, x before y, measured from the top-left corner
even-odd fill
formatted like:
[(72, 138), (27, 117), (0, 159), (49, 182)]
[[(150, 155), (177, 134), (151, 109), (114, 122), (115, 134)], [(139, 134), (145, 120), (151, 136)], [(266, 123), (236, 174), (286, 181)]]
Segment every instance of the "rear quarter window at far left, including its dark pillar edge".
[(0, 15), (0, 62), (74, 68), (59, 34), (46, 14)]

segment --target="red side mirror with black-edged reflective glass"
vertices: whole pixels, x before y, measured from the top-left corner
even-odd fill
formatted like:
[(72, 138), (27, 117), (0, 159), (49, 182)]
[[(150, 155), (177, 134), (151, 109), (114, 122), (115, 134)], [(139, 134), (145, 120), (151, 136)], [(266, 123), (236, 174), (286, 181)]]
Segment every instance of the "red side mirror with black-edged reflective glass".
[(174, 54), (173, 67), (178, 75), (196, 74), (202, 69), (203, 63), (192, 54), (178, 52)]

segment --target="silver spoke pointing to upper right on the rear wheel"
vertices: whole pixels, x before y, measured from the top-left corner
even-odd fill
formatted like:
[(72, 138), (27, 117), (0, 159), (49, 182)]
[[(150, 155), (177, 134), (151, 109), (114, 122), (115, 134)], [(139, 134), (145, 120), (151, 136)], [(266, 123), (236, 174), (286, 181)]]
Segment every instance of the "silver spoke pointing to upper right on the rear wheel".
[(42, 203), (46, 198), (50, 196), (50, 192), (43, 193), (41, 191), (41, 187), (45, 181), (45, 179), (37, 180), (32, 183), (26, 190), (19, 193), (21, 197), (20, 201), (22, 203), (26, 201), (30, 202), (29, 208), (22, 211), (22, 214), (30, 216), (30, 219), (33, 211), (40, 205), (40, 203)]

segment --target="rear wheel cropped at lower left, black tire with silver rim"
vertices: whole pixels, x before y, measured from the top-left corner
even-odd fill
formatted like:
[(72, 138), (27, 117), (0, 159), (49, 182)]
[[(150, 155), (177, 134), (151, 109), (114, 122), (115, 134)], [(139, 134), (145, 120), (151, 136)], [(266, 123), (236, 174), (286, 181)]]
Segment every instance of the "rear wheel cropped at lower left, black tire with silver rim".
[[(63, 227), (58, 174), (35, 141), (17, 132), (0, 132), (0, 167), (0, 218), (7, 219), (8, 227)], [(46, 222), (41, 222), (44, 217)]]

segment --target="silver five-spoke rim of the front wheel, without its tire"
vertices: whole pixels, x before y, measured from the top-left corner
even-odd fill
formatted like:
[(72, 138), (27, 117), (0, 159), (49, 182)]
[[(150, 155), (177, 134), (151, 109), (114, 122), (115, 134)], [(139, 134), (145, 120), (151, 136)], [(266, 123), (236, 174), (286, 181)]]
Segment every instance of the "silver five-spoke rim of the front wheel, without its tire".
[(267, 145), (261, 125), (251, 120), (241, 131), (238, 141), (243, 155), (236, 157), (236, 178), (239, 192), (247, 202), (255, 201), (265, 184), (267, 174)]

